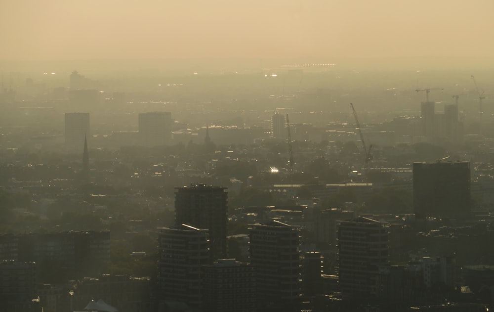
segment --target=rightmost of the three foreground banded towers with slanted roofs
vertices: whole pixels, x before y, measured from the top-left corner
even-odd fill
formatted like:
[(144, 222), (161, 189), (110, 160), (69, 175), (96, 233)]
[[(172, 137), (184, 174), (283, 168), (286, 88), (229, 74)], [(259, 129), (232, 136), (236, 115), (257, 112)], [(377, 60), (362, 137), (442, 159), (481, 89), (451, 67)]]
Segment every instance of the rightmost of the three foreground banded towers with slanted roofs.
[(339, 222), (339, 284), (344, 295), (374, 296), (378, 266), (387, 263), (388, 229), (385, 223), (363, 217)]

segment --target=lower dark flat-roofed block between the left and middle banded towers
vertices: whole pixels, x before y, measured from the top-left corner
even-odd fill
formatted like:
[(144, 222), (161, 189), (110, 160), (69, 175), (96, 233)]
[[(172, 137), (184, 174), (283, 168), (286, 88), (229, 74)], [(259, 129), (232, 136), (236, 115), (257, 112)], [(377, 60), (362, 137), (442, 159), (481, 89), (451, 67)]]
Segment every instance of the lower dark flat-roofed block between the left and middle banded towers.
[(255, 269), (235, 259), (220, 259), (203, 267), (203, 311), (254, 312)]

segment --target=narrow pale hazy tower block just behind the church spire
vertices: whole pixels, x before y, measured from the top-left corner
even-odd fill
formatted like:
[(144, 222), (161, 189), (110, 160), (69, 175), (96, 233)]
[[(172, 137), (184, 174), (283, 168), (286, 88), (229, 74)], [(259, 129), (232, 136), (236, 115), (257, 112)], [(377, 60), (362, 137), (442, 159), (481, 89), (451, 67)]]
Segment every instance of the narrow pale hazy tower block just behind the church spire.
[(89, 138), (89, 113), (65, 113), (65, 147), (81, 151), (84, 138)]

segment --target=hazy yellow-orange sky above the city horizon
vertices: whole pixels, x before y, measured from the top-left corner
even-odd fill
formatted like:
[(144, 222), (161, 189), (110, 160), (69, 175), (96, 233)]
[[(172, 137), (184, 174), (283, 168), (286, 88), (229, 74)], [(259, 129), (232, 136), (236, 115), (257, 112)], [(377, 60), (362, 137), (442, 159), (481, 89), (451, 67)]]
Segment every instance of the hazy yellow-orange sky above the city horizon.
[(0, 60), (494, 55), (492, 0), (2, 0)]

